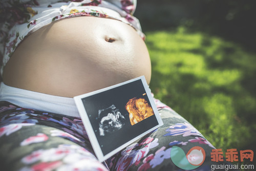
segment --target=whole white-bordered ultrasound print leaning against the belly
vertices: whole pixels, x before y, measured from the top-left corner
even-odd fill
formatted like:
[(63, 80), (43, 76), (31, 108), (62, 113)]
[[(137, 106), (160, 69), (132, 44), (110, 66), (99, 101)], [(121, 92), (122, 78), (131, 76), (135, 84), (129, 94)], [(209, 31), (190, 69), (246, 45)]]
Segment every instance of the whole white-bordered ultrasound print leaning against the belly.
[(74, 99), (101, 162), (163, 124), (144, 76)]

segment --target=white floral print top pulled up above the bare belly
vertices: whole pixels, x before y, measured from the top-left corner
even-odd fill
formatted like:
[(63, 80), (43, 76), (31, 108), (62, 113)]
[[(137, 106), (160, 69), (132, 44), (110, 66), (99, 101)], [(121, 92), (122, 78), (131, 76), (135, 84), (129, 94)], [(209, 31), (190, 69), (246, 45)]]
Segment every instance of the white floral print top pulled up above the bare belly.
[(3, 67), (25, 36), (63, 18), (96, 16), (131, 25), (144, 39), (133, 16), (135, 0), (2, 0), (0, 2), (0, 58)]

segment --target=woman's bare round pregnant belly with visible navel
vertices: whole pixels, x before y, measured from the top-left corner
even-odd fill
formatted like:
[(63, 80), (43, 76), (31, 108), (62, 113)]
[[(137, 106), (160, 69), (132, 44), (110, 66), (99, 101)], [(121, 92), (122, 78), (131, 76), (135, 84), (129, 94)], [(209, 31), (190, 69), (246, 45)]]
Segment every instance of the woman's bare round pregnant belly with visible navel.
[(99, 17), (54, 22), (24, 39), (8, 61), (8, 86), (74, 97), (141, 75), (151, 79), (142, 38), (129, 25)]

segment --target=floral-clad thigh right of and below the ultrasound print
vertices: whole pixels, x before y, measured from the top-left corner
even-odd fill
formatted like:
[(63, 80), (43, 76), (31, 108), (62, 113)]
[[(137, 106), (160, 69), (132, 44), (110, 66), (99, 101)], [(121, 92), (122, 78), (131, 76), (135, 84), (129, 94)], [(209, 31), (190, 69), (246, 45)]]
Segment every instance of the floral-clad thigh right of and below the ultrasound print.
[[(185, 154), (189, 149), (202, 147), (205, 160), (198, 169), (210, 170), (210, 152), (215, 147), (172, 109), (167, 106), (158, 109), (164, 125), (108, 159), (106, 163), (110, 170), (182, 170), (171, 159), (174, 146), (184, 151), (183, 160), (187, 160)], [(177, 153), (172, 157), (182, 157), (182, 154)]]

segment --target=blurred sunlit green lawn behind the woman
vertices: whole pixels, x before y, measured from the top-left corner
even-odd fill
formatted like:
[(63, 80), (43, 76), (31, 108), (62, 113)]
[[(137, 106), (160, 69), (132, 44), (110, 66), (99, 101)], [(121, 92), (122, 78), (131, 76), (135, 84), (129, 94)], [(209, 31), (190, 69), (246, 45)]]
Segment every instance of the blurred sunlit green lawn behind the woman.
[(193, 124), (215, 147), (252, 149), (256, 142), (256, 55), (220, 37), (146, 33), (156, 98)]

